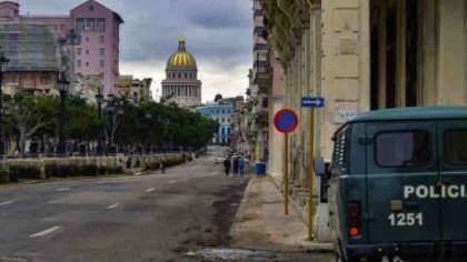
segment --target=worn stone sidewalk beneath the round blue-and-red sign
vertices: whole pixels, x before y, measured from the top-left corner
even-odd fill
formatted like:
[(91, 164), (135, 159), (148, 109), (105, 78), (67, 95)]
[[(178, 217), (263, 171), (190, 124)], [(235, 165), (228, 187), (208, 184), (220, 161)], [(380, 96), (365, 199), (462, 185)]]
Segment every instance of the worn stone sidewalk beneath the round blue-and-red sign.
[(254, 178), (245, 191), (234, 225), (231, 248), (296, 251), (331, 251), (330, 244), (307, 240), (308, 228), (289, 205), (284, 214), (284, 198), (270, 177)]

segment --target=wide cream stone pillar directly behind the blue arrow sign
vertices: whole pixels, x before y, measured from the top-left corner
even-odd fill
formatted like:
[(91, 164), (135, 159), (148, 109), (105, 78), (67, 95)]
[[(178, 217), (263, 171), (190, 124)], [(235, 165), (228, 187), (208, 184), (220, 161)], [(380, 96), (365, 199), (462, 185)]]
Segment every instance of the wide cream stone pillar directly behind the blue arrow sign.
[(346, 121), (341, 115), (370, 105), (369, 0), (321, 2), (322, 95), (326, 99), (320, 145), (330, 161), (331, 137)]

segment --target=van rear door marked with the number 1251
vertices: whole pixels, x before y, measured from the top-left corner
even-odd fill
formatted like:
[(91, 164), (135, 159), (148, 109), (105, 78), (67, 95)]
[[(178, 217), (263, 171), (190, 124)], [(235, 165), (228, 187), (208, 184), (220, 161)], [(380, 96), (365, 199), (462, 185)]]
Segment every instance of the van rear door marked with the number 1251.
[(366, 144), (369, 242), (439, 240), (436, 123), (368, 123)]

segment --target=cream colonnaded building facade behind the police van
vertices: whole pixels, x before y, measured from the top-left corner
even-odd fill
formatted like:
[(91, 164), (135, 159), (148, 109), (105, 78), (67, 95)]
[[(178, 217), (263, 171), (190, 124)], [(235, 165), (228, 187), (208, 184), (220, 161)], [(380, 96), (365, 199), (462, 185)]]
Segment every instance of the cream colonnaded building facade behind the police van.
[[(267, 21), (265, 37), (284, 68), (284, 107), (299, 115), (287, 164), (297, 203), (306, 203), (300, 192), (314, 175), (311, 155), (329, 162), (334, 132), (358, 112), (467, 104), (464, 0), (257, 2)], [(264, 77), (274, 90), (275, 74)], [(324, 97), (326, 105), (314, 115), (300, 107), (302, 97)], [(326, 221), (316, 233), (326, 239), (325, 181), (316, 178), (315, 184), (317, 221)]]

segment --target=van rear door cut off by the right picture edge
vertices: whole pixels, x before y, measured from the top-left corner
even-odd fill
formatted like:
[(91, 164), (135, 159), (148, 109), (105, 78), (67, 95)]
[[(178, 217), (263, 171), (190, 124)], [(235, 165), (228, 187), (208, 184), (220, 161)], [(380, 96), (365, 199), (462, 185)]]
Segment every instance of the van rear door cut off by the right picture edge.
[(438, 122), (443, 239), (467, 240), (467, 120)]

